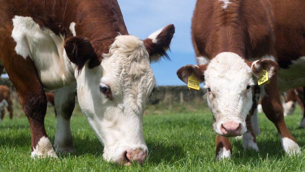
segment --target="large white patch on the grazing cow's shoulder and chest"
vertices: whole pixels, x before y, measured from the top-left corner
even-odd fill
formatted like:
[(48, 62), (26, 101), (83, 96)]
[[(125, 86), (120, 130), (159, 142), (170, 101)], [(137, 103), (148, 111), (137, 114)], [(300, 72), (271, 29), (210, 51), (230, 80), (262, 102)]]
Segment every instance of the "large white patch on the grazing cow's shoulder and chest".
[(33, 60), (45, 88), (56, 89), (74, 80), (73, 71), (68, 69), (63, 36), (47, 28), (41, 29), (31, 17), (15, 16), (12, 21), (15, 51)]

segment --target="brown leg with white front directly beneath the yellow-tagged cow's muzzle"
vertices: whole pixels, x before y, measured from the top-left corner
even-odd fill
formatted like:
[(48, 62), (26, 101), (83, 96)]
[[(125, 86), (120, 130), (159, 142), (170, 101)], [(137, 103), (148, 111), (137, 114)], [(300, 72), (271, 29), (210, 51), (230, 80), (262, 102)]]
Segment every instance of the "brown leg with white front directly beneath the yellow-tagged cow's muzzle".
[(228, 137), (217, 134), (216, 136), (216, 161), (224, 158), (230, 158), (232, 154), (232, 145)]

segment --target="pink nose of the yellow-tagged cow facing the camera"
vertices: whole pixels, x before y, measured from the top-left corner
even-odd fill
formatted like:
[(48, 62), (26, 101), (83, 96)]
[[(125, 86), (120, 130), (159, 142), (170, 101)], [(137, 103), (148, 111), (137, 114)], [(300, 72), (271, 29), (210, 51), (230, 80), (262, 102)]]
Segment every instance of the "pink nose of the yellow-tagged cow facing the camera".
[(239, 136), (241, 135), (242, 125), (237, 121), (223, 122), (220, 130), (225, 136)]

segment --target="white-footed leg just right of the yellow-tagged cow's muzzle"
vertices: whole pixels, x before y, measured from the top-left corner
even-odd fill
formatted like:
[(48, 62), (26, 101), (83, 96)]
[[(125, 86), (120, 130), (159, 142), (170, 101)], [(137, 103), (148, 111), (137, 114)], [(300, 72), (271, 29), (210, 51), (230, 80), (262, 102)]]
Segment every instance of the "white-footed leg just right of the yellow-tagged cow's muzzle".
[(258, 151), (256, 136), (252, 129), (250, 115), (248, 115), (246, 118), (246, 125), (247, 125), (247, 133), (244, 133), (242, 135), (242, 147), (244, 149), (254, 149)]

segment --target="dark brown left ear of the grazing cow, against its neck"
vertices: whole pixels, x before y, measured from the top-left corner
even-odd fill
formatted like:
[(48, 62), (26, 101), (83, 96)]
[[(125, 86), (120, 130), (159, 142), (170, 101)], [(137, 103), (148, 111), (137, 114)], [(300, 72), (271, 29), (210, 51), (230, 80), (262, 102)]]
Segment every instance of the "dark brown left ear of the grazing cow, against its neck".
[(87, 60), (89, 60), (88, 67), (90, 69), (101, 64), (91, 42), (85, 37), (67, 38), (64, 47), (69, 60), (77, 66), (78, 73), (83, 69)]

